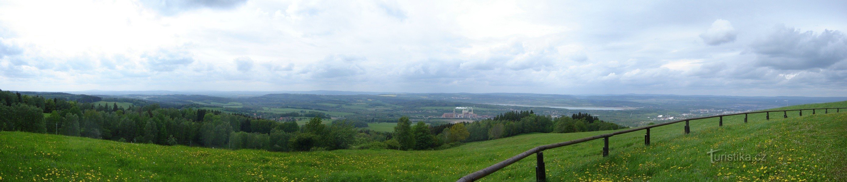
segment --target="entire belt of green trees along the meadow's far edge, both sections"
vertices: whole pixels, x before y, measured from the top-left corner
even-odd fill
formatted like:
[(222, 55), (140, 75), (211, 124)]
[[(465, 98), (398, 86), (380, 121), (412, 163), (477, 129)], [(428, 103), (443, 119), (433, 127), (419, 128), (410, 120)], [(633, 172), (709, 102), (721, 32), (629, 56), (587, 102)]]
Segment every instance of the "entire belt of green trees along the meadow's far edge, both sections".
[[(75, 99), (75, 100), (69, 100)], [(551, 117), (534, 111), (510, 111), (494, 119), (431, 126), (406, 116), (396, 120), (394, 132), (357, 129), (362, 120), (333, 120), (325, 115), (299, 126), (295, 121), (264, 120), (189, 106), (162, 107), (102, 105), (97, 96), (54, 97), (0, 90), (0, 130), (85, 136), (118, 142), (155, 143), (276, 152), (384, 148), (429, 150), (455, 147), (462, 142), (494, 140), (531, 132), (580, 132), (625, 128), (587, 113)], [(365, 123), (366, 124), (366, 123)]]

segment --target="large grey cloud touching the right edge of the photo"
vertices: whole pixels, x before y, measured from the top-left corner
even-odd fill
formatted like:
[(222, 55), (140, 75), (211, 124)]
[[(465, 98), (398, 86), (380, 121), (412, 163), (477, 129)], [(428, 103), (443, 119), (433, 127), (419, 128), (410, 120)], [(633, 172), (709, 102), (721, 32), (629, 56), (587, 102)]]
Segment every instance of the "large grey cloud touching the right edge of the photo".
[(827, 68), (847, 60), (847, 36), (839, 30), (813, 31), (778, 25), (750, 45), (756, 65), (780, 70)]

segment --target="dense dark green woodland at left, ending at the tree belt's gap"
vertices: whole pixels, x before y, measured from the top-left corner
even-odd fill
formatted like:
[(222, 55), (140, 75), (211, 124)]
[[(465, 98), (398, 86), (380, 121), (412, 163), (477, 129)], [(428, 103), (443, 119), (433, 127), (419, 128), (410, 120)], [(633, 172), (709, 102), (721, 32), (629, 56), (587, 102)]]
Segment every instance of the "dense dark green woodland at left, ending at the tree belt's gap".
[[(325, 125), (319, 116), (301, 127), (295, 121), (263, 120), (215, 110), (178, 110), (158, 104), (123, 108), (8, 91), (0, 91), (0, 131), (269, 151), (344, 149), (357, 141), (352, 122), (341, 120)], [(385, 141), (390, 137), (379, 132), (367, 135), (368, 139), (359, 141)]]

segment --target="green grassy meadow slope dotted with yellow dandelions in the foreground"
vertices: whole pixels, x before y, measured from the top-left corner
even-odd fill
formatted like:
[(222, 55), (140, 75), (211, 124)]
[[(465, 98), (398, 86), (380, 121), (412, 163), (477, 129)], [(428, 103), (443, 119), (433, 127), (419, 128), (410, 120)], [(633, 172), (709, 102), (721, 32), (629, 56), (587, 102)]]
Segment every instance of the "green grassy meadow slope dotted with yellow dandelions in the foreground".
[[(805, 105), (802, 107), (822, 107)], [(847, 102), (828, 104), (847, 106)], [(800, 106), (794, 106), (800, 107)], [(809, 113), (811, 114), (811, 113)], [(789, 119), (764, 114), (662, 126), (651, 131), (650, 147), (643, 132), (611, 138), (611, 155), (600, 156), (602, 140), (545, 151), (551, 181), (569, 180), (844, 180), (847, 113)], [(782, 116), (781, 114), (778, 116)], [(296, 180), (296, 181), (451, 181), (517, 153), (544, 144), (594, 136), (609, 131), (541, 133), (471, 142), (441, 151), (337, 150), (271, 153), (166, 147), (96, 139), (0, 132), (0, 176), (3, 179), (129, 179), (129, 180)], [(764, 162), (712, 164), (709, 149), (718, 153), (767, 154)], [(31, 169), (30, 169), (31, 168)], [(767, 172), (766, 172), (767, 171)], [(57, 175), (59, 174), (59, 175)], [(37, 176), (36, 176), (37, 175)], [(839, 179), (841, 178), (841, 179)], [(534, 180), (534, 157), (491, 174), (483, 181)]]

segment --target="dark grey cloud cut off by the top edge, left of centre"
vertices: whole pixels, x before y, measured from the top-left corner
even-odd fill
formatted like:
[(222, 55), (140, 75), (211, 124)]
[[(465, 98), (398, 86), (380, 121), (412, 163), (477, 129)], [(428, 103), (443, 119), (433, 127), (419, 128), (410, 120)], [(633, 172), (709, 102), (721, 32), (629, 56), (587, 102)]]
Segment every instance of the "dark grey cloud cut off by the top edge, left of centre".
[(165, 16), (199, 8), (230, 9), (241, 6), (246, 2), (247, 0), (141, 0), (141, 4), (145, 7)]

